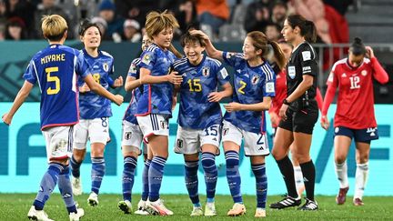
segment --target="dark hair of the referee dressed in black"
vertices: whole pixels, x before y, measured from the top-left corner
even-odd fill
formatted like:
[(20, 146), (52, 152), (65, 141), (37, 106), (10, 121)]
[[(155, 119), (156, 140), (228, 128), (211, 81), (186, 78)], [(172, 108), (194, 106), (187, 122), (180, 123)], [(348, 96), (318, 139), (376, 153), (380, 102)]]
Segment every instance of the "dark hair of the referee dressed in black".
[(300, 29), (300, 35), (304, 36), (306, 41), (314, 43), (317, 40), (317, 28), (313, 22), (308, 21), (302, 15), (289, 15), (287, 23), (292, 27)]

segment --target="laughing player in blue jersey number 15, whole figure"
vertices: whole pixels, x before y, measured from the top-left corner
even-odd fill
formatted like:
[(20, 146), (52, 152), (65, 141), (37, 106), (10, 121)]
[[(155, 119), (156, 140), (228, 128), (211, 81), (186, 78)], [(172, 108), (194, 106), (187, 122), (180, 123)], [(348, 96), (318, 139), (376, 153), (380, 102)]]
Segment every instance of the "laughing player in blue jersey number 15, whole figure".
[[(194, 205), (191, 216), (217, 216), (215, 194), (217, 185), (216, 154), (221, 140), (222, 113), (219, 101), (232, 95), (226, 68), (216, 59), (203, 55), (205, 41), (200, 35), (182, 36), (180, 44), (186, 57), (174, 63), (174, 70), (183, 76), (180, 85), (180, 110), (175, 152), (185, 158), (186, 188)], [(218, 92), (217, 86), (223, 90)], [(202, 211), (198, 196), (199, 153), (207, 186), (207, 204)]]

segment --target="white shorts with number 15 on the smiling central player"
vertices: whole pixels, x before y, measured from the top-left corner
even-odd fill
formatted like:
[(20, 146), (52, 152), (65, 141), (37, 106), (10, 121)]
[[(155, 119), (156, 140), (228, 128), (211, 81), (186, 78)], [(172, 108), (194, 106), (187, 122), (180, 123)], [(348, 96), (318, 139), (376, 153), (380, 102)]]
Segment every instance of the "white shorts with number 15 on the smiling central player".
[(176, 144), (174, 151), (176, 154), (192, 155), (201, 152), (201, 146), (217, 146), (219, 155), (219, 144), (221, 140), (221, 126), (213, 125), (205, 129), (190, 129), (177, 127)]

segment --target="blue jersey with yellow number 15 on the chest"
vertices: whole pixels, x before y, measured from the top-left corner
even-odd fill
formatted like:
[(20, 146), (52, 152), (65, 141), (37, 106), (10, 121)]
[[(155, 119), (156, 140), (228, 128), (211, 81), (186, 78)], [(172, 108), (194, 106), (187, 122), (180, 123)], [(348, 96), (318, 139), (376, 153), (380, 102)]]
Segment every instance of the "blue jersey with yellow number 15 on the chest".
[(177, 123), (192, 129), (221, 125), (220, 105), (218, 102), (209, 102), (208, 95), (217, 91), (218, 83), (225, 85), (229, 82), (224, 66), (207, 56), (203, 57), (199, 65), (191, 65), (184, 57), (174, 63), (174, 69), (183, 76)]

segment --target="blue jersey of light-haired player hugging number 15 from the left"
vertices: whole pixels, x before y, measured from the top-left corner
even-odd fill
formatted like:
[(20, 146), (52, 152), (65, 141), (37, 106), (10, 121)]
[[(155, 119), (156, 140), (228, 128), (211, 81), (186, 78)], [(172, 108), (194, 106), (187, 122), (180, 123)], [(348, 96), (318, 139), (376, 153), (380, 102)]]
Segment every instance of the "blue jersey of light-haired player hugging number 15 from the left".
[[(166, 50), (162, 50), (157, 45), (150, 45), (140, 56), (140, 68), (151, 71), (150, 75), (168, 75), (176, 56)], [(136, 107), (136, 116), (146, 116), (148, 114), (159, 114), (172, 116), (172, 95), (173, 85), (169, 82), (160, 84), (145, 84), (141, 98)]]

